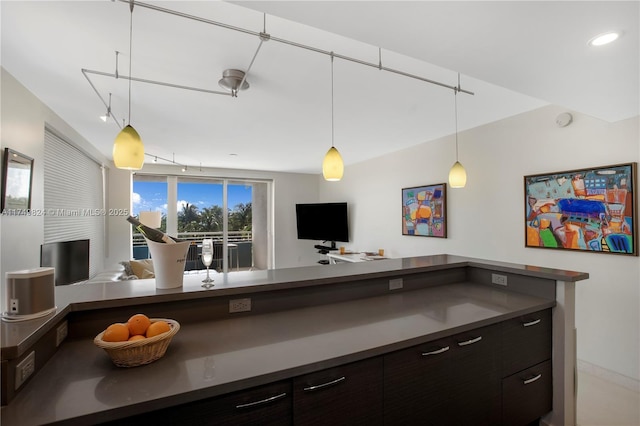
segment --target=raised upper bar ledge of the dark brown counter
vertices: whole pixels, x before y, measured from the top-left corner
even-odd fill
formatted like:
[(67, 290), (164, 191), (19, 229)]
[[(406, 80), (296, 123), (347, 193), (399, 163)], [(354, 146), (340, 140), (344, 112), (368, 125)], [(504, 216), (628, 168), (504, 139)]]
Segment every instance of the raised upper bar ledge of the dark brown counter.
[(329, 266), (319, 265), (267, 271), (232, 272), (224, 275), (217, 274), (215, 277), (216, 285), (210, 290), (203, 289), (200, 286), (200, 278), (194, 275), (186, 275), (182, 287), (167, 290), (156, 289), (153, 280), (56, 287), (57, 310), (55, 313), (42, 319), (20, 323), (7, 323), (5, 321), (0, 323), (1, 354), (3, 360), (21, 356), (71, 311), (330, 285), (354, 280), (384, 278), (466, 266), (569, 282), (584, 280), (589, 276), (583, 272), (440, 254), (361, 263), (342, 263)]

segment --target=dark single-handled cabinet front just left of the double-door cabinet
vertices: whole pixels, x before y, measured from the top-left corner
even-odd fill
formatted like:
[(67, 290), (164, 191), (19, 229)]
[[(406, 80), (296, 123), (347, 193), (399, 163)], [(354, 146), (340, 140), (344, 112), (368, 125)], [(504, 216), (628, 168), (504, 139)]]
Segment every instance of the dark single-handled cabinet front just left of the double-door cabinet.
[(382, 358), (293, 379), (293, 418), (302, 425), (381, 425)]

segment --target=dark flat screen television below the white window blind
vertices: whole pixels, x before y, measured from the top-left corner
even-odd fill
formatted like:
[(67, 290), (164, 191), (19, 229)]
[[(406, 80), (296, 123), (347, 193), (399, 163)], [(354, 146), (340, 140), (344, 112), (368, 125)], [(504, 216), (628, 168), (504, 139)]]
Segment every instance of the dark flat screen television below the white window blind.
[(89, 279), (89, 240), (60, 241), (40, 246), (40, 266), (55, 268), (55, 285)]

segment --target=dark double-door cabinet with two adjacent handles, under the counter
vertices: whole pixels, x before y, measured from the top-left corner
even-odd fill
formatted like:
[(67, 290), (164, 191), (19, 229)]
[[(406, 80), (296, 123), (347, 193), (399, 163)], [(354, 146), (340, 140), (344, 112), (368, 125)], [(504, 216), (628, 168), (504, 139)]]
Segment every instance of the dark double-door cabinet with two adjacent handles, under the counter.
[(499, 424), (500, 347), (493, 325), (385, 355), (385, 424)]

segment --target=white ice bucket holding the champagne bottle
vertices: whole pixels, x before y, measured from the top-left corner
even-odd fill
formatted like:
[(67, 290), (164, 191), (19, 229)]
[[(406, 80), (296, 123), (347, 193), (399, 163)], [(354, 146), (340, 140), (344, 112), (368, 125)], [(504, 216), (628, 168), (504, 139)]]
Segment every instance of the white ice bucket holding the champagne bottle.
[(175, 244), (156, 243), (147, 240), (147, 246), (153, 260), (153, 271), (156, 276), (156, 288), (182, 287), (184, 267), (191, 241)]

